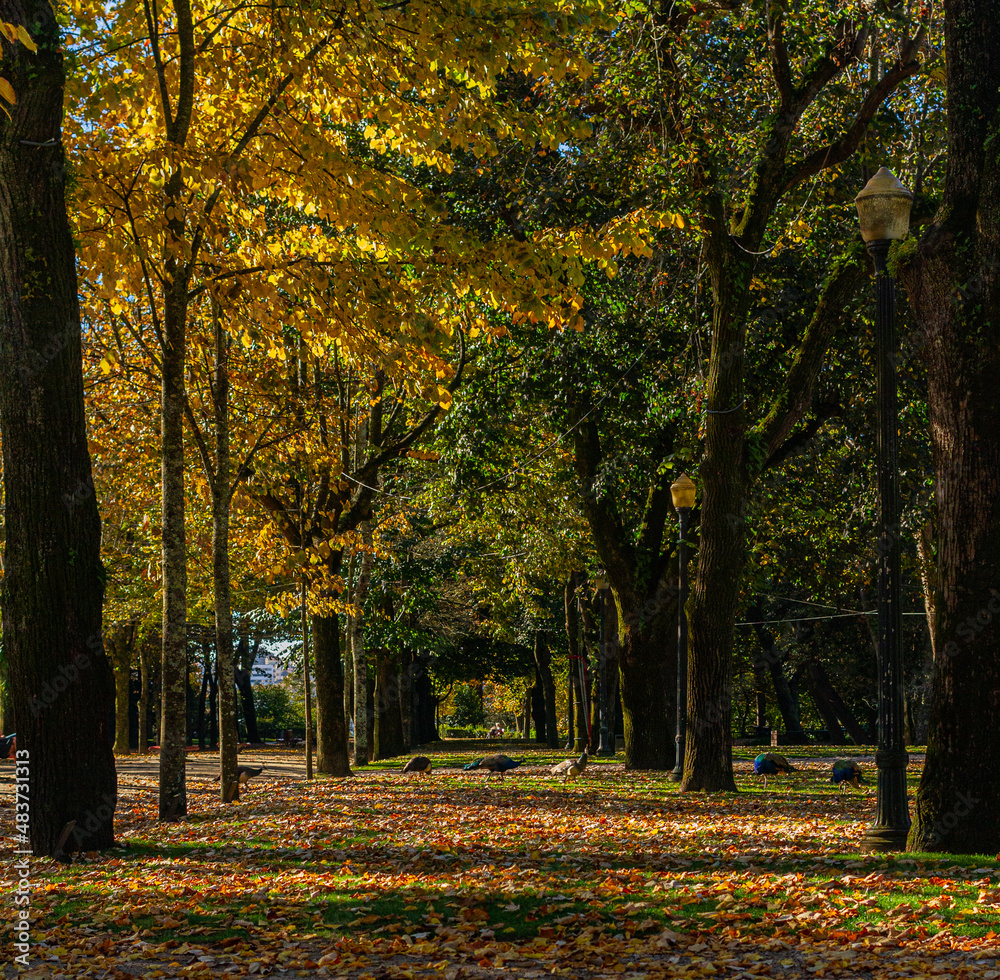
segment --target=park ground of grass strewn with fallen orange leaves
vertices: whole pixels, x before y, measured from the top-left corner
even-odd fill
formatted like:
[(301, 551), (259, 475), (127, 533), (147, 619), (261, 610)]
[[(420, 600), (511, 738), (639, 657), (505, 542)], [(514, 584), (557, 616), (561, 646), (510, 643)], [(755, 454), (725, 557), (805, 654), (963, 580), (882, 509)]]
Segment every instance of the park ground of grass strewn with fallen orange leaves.
[[(461, 770), (498, 748), (526, 755), (503, 784)], [(247, 751), (266, 768), (233, 805), (199, 754), (189, 814), (166, 825), (155, 759), (119, 759), (119, 847), (32, 861), (30, 963), (5, 957), (5, 975), (1000, 978), (995, 856), (861, 853), (874, 793), (840, 795), (833, 750), (793, 755), (766, 790), (759, 750), (738, 750), (743, 792), (718, 795), (620, 757), (563, 784), (549, 766), (566, 753), (426, 751), (431, 775), (312, 783), (300, 753)], [(3, 932), (9, 950), (10, 916)]]

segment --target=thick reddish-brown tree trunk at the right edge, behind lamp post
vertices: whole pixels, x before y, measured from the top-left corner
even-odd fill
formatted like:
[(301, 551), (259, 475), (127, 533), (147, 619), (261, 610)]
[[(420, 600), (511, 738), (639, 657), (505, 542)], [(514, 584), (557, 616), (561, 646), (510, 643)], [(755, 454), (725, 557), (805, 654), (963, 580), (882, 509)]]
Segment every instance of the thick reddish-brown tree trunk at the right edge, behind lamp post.
[(917, 247), (904, 247), (897, 256), (925, 341), (938, 533), (927, 761), (907, 847), (995, 854), (1000, 849), (996, 3), (946, 0), (945, 50), (944, 196)]

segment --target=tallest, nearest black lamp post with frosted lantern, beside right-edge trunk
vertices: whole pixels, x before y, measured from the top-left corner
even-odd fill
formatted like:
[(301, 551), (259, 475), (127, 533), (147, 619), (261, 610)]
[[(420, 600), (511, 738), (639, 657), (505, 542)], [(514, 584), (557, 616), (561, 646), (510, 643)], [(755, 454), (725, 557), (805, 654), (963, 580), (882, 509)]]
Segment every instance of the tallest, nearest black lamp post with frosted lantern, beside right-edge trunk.
[(906, 800), (909, 756), (903, 739), (903, 663), (899, 608), (899, 453), (896, 404), (896, 292), (886, 258), (905, 238), (913, 195), (881, 167), (855, 199), (861, 237), (875, 262), (875, 356), (878, 384), (878, 797), (875, 823), (862, 848), (906, 847), (910, 813)]

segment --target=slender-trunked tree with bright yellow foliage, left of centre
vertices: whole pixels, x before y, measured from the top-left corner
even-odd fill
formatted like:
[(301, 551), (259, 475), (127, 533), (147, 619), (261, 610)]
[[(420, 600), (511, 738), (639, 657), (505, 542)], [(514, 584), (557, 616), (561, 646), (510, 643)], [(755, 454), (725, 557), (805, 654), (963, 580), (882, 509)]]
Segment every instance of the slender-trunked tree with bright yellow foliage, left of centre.
[[(142, 298), (160, 347), (162, 819), (187, 806), (183, 425), (193, 305), (243, 290), (243, 337), (275, 357), (294, 317), (352, 356), (392, 362), (400, 339), (451, 336), (472, 255), (491, 302), (561, 321), (545, 290), (520, 275), (539, 264), (549, 277), (562, 264), (551, 252), (539, 263), (536, 252), (508, 254), (507, 243), (481, 248), (385, 159), (448, 170), (455, 150), (494, 152), (491, 129), (558, 145), (553, 120), (493, 104), (495, 79), (550, 59), (562, 69), (555, 32), (585, 20), (500, 3), (237, 3), (196, 14), (190, 0), (144, 2), (108, 11), (110, 31), (89, 9), (75, 24), (81, 42), (110, 49), (80, 73), (74, 113), (88, 148), (84, 258), (113, 312), (119, 294)], [(128, 58), (110, 34), (130, 39)]]

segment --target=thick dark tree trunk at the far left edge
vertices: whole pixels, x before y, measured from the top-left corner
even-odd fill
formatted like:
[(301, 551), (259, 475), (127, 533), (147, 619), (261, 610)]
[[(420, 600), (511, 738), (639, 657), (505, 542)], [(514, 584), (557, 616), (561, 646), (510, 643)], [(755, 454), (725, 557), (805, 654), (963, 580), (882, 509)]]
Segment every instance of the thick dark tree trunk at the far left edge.
[(38, 45), (32, 54), (3, 42), (17, 103), (10, 119), (0, 116), (0, 596), (17, 760), (30, 769), (25, 829), (32, 852), (49, 855), (72, 821), (64, 850), (114, 843), (114, 679), (101, 639), (105, 575), (64, 195), (59, 28), (40, 0), (0, 0), (0, 19), (23, 24)]

